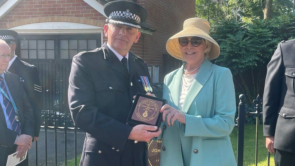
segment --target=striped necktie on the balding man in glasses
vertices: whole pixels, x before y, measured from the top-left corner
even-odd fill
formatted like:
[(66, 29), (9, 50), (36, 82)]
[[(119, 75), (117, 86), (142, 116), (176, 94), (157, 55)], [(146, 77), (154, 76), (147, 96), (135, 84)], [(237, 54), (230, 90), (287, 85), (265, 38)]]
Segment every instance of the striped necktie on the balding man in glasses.
[[(3, 91), (8, 96), (8, 91), (4, 82), (4, 78), (0, 76), (0, 87), (3, 89)], [(2, 93), (3, 97), (3, 104), (6, 108), (6, 114), (8, 115), (9, 121), (12, 126), (12, 130), (18, 134), (21, 134), (21, 126), (19, 125), (19, 122), (15, 120), (15, 110), (13, 109), (13, 106), (11, 102), (5, 97), (5, 95)], [(8, 96), (9, 97), (9, 96)]]

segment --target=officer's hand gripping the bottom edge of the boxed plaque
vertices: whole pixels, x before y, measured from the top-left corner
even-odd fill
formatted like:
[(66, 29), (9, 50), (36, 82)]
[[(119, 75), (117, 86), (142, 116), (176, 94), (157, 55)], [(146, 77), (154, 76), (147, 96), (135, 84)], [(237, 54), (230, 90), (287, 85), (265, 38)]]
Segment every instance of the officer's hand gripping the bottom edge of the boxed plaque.
[(128, 139), (137, 140), (137, 141), (144, 141), (148, 142), (152, 138), (157, 137), (161, 134), (161, 128), (157, 132), (158, 129), (157, 126), (151, 126), (151, 125), (136, 125), (132, 128)]

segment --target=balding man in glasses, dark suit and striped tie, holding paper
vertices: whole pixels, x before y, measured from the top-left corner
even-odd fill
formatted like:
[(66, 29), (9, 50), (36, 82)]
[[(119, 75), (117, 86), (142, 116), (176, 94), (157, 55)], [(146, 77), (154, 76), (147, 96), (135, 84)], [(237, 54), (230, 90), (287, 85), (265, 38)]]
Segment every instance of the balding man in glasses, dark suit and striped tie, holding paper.
[(33, 110), (21, 81), (5, 71), (10, 56), (9, 46), (0, 40), (0, 165), (6, 165), (8, 155), (16, 151), (17, 158), (23, 156), (34, 136)]

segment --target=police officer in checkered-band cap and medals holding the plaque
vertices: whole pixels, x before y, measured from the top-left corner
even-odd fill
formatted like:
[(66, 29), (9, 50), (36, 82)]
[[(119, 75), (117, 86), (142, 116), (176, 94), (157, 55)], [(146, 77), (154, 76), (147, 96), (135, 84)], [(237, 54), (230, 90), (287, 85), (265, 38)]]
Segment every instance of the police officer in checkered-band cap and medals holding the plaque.
[[(136, 93), (147, 93), (146, 63), (130, 50), (139, 40), (147, 11), (128, 1), (105, 4), (108, 37), (102, 47), (73, 57), (68, 100), (76, 126), (86, 132), (80, 165), (144, 166), (156, 126), (126, 124)], [(150, 93), (148, 93), (151, 95)], [(151, 132), (154, 131), (154, 132)]]

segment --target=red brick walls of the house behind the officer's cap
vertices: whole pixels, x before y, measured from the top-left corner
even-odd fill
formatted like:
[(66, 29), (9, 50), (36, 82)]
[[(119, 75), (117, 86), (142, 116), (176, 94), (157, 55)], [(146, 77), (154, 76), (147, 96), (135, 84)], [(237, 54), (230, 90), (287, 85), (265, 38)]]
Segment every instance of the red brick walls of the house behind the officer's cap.
[[(183, 28), (183, 21), (195, 16), (195, 0), (138, 0), (148, 11), (146, 23), (157, 29), (153, 35), (141, 34), (138, 43), (131, 48), (148, 65), (157, 65), (159, 81), (162, 78), (162, 55), (167, 54), (166, 41)], [(46, 16), (69, 16), (105, 20), (105, 17), (83, 0), (22, 0), (0, 19), (0, 29), (6, 29), (8, 22), (26, 18)], [(103, 41), (107, 39), (103, 37)], [(143, 43), (143, 44), (142, 44)]]

